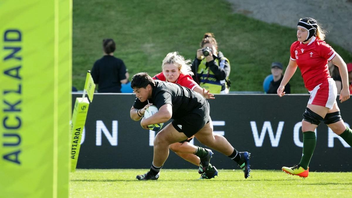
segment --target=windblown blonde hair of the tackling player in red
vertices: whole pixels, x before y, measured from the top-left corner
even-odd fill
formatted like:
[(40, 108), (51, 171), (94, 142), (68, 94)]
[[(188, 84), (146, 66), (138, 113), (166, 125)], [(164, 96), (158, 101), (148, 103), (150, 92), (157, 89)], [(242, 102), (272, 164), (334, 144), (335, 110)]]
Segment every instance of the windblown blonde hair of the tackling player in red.
[(192, 76), (194, 74), (191, 69), (191, 64), (189, 64), (190, 62), (192, 62), (190, 59), (184, 60), (183, 56), (179, 55), (177, 51), (174, 51), (165, 56), (161, 68), (164, 70), (165, 64), (174, 64), (178, 70), (180, 70), (180, 73)]

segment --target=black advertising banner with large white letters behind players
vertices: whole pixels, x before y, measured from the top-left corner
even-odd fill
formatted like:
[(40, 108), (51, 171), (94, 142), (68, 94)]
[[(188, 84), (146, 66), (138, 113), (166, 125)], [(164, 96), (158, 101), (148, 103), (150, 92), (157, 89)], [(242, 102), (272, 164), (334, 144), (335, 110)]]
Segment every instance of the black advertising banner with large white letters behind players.
[[(72, 100), (76, 97), (80, 94), (73, 94)], [(142, 129), (130, 118), (134, 99), (134, 94), (95, 94), (77, 168), (150, 168), (155, 132)], [(252, 153), (252, 169), (295, 165), (302, 155), (301, 121), (308, 99), (307, 94), (282, 98), (269, 94), (216, 95), (209, 100), (214, 132), (226, 137), (238, 151)], [(338, 101), (338, 105), (342, 119), (350, 126), (352, 100)], [(323, 123), (316, 129), (316, 136), (310, 171), (352, 171), (352, 149), (342, 138)], [(196, 139), (192, 143), (203, 146)], [(227, 156), (213, 151), (211, 163), (216, 168), (237, 168)], [(196, 167), (170, 151), (164, 168)]]

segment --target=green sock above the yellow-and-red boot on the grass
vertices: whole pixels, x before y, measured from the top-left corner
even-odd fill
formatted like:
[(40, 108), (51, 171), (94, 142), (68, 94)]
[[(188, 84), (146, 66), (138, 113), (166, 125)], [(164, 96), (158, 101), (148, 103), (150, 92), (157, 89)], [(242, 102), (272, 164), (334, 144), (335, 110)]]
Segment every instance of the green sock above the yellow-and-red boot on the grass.
[(316, 144), (315, 132), (306, 131), (303, 132), (303, 154), (300, 162), (300, 166), (307, 170), (310, 158), (312, 158)]

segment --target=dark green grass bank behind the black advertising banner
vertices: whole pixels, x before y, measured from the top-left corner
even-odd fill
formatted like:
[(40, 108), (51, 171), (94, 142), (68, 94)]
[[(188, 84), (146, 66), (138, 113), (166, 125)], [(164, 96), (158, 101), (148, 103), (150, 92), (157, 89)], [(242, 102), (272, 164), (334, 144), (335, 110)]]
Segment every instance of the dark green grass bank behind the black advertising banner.
[[(103, 38), (116, 41), (115, 56), (130, 76), (155, 75), (168, 52), (194, 59), (204, 33), (213, 32), (230, 60), (230, 91), (263, 91), (271, 62), (287, 66), (296, 30), (235, 14), (232, 8), (226, 0), (73, 1), (73, 85), (83, 89), (87, 70), (102, 56)], [(351, 52), (329, 42), (329, 35), (327, 42), (352, 62)], [(307, 93), (299, 69), (290, 84), (292, 93)]]

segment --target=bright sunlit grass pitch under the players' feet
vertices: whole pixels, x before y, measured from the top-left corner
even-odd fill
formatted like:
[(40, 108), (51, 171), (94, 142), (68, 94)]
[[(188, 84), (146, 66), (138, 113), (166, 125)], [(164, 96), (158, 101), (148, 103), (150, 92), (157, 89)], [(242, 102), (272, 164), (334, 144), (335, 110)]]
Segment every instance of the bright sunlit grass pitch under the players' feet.
[(78, 169), (71, 173), (70, 197), (352, 197), (352, 172), (310, 172), (309, 177), (274, 170), (219, 170), (197, 180), (196, 169), (162, 169), (157, 181), (138, 181), (147, 169)]

